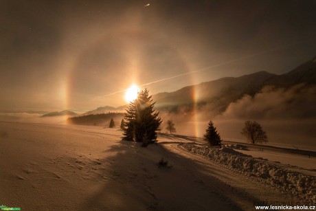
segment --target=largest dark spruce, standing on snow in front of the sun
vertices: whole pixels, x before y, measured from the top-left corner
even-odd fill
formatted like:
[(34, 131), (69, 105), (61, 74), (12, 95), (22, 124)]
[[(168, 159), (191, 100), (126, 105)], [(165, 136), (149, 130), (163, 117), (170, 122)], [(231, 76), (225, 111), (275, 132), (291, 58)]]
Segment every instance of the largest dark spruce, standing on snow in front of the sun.
[(122, 140), (142, 142), (142, 146), (157, 141), (157, 130), (161, 124), (159, 112), (154, 109), (148, 89), (138, 92), (137, 99), (130, 102), (124, 116), (124, 137)]

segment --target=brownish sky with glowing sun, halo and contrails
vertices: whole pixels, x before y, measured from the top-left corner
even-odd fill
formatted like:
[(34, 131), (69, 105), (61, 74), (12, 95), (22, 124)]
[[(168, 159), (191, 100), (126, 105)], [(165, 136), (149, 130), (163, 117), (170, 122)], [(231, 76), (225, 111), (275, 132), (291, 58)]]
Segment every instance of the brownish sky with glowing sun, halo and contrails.
[(284, 74), (316, 56), (315, 11), (308, 0), (1, 0), (0, 111), (89, 111), (126, 104), (133, 84), (155, 94)]

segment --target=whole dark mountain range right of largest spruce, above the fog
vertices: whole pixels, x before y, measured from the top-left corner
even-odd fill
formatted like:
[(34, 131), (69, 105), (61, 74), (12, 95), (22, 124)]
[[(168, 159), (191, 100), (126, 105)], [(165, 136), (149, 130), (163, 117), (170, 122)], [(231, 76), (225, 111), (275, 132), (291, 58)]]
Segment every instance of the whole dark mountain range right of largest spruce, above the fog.
[[(286, 74), (275, 75), (267, 71), (259, 71), (238, 78), (220, 78), (183, 87), (170, 93), (158, 93), (153, 99), (157, 102), (157, 109), (161, 111), (186, 114), (193, 111), (209, 111), (214, 117), (225, 112), (229, 104), (238, 100), (251, 99), (256, 104), (258, 98), (275, 101), (280, 100), (281, 96), (286, 98), (284, 99), (286, 104), (304, 105), (305, 109), (297, 107), (297, 110), (304, 111), (295, 112), (295, 117), (306, 116), (305, 106), (311, 109), (308, 115), (315, 116), (315, 109), (311, 107), (315, 102), (315, 85), (316, 59), (313, 59)], [(303, 97), (306, 99), (303, 100)], [(262, 105), (267, 103), (262, 102)], [(271, 102), (269, 107), (273, 109)], [(261, 114), (263, 117), (264, 113)]]

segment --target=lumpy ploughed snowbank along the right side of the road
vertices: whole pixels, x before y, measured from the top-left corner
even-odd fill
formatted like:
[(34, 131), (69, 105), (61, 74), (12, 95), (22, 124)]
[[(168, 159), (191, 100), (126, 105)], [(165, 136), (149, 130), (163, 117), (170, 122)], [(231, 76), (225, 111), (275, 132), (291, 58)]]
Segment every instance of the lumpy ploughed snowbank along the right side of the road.
[(239, 173), (250, 177), (263, 179), (271, 186), (277, 186), (286, 192), (292, 192), (306, 201), (316, 202), (316, 177), (293, 172), (264, 162), (264, 160), (254, 159), (249, 155), (238, 153), (232, 148), (218, 149), (185, 143), (179, 144), (179, 146), (190, 153), (203, 155), (203, 157), (216, 164), (237, 170)]

